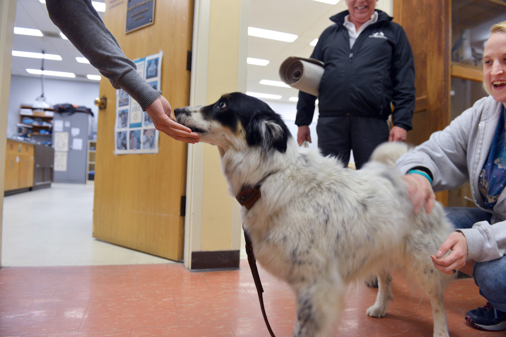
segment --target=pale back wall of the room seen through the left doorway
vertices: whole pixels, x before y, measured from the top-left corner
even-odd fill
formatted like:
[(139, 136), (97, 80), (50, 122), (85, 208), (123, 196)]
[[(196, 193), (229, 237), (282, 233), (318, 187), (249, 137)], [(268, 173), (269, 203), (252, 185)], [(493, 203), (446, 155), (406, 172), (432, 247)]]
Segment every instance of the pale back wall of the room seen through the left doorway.
[[(11, 76), (7, 136), (12, 136), (18, 130), (19, 106), (21, 104), (32, 105), (40, 93), (40, 78)], [(94, 115), (92, 132), (97, 132), (98, 107), (93, 104), (93, 101), (99, 97), (98, 82), (65, 81), (45, 77), (44, 97), (52, 105), (69, 103), (90, 108)]]

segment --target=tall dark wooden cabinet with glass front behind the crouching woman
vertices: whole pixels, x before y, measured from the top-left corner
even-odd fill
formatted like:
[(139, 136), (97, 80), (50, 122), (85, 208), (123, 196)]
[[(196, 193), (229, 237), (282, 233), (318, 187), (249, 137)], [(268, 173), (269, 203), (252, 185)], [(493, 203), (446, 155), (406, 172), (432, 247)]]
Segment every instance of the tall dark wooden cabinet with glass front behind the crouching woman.
[[(500, 0), (394, 0), (394, 20), (402, 25), (415, 59), (414, 145), (447, 126), (487, 95), (482, 88), (484, 42), (490, 27), (506, 20)], [(469, 184), (437, 194), (445, 206), (474, 206)]]

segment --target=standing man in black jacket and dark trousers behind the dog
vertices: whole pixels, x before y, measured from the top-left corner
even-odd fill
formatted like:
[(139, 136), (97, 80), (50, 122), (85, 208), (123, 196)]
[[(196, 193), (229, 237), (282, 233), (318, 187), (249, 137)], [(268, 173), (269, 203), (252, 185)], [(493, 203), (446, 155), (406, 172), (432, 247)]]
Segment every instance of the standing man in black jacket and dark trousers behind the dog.
[[(318, 94), (318, 148), (345, 165), (352, 150), (357, 169), (379, 143), (406, 140), (414, 111), (411, 46), (402, 27), (375, 10), (376, 1), (346, 0), (348, 11), (330, 18), (334, 24), (323, 31), (311, 55), (325, 64)], [(299, 92), (299, 145), (311, 142), (315, 100)]]

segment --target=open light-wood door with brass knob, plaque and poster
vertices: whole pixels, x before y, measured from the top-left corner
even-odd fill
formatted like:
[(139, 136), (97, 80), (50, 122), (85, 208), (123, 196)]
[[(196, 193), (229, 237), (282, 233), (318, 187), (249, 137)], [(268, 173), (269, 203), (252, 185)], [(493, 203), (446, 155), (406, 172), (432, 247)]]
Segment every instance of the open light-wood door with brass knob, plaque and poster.
[[(154, 24), (125, 34), (125, 0), (106, 1), (104, 22), (131, 59), (163, 52), (161, 90), (173, 108), (189, 104), (193, 0), (156, 1)], [(93, 236), (171, 260), (183, 258), (187, 145), (160, 133), (158, 154), (114, 155), (116, 91), (100, 82)]]

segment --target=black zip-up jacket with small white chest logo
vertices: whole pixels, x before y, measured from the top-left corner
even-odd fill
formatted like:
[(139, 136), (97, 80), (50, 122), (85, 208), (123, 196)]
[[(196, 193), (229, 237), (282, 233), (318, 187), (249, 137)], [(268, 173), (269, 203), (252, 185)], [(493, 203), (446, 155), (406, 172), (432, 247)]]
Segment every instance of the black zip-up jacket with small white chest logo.
[[(393, 122), (412, 128), (415, 88), (413, 52), (404, 29), (386, 13), (360, 33), (350, 50), (348, 11), (330, 17), (335, 22), (323, 31), (312, 58), (323, 61), (319, 85), (320, 116), (355, 115), (387, 119), (394, 106)], [(295, 124), (309, 125), (316, 97), (300, 91)]]

